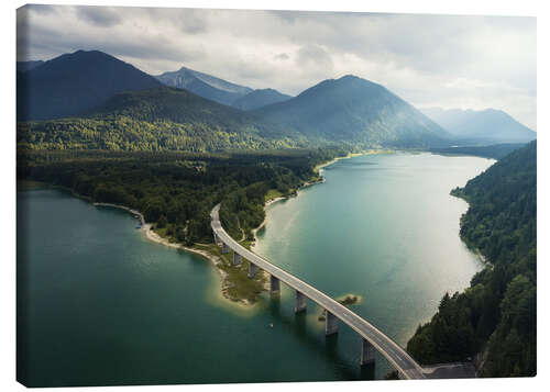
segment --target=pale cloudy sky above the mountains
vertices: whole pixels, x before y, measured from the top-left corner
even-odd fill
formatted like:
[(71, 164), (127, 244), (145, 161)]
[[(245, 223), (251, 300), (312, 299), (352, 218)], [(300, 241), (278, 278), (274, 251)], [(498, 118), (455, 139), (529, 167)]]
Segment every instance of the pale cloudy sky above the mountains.
[(297, 94), (346, 74), (417, 108), (495, 108), (537, 128), (534, 18), (28, 5), (18, 59), (99, 49)]

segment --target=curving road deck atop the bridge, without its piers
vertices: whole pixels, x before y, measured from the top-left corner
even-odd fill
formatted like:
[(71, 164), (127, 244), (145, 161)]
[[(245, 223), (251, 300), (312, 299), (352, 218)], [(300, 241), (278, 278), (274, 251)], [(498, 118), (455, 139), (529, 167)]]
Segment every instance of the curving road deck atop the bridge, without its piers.
[(233, 251), (241, 255), (250, 262), (256, 265), (258, 268), (271, 273), (278, 280), (285, 282), (287, 285), (296, 291), (301, 292), (304, 295), (309, 298), (311, 301), (316, 302), (319, 306), (326, 309), (340, 321), (349, 325), (364, 339), (371, 343), (374, 348), (382, 354), (400, 373), (402, 378), (405, 379), (425, 379), (426, 376), (422, 371), (420, 365), (418, 365), (398, 344), (392, 340), (389, 337), (384, 335), (375, 326), (361, 318), (359, 315), (350, 311), (344, 305), (338, 303), (330, 296), (320, 292), (316, 288), (309, 285), (302, 280), (296, 278), (294, 275), (286, 272), (285, 270), (274, 266), (263, 257), (250, 251), (238, 242), (235, 242), (231, 236), (226, 233), (221, 226), (219, 219), (220, 204), (216, 205), (210, 213), (212, 219), (211, 226), (215, 234), (220, 238), (223, 244), (229, 246)]

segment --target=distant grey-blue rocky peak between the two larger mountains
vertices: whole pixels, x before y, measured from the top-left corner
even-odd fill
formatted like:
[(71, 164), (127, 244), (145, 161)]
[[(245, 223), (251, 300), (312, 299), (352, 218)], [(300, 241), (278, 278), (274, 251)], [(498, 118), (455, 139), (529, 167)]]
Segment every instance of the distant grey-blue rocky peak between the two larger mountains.
[(189, 90), (211, 101), (231, 105), (253, 90), (186, 67), (156, 76), (163, 85)]

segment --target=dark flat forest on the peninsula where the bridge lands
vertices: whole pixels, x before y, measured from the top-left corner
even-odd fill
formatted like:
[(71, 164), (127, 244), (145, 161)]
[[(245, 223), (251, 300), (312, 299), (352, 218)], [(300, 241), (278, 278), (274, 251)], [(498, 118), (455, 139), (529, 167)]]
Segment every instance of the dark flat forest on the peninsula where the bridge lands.
[(125, 153), (20, 150), (18, 179), (68, 188), (97, 202), (143, 212), (174, 240), (211, 242), (210, 211), (222, 202), (222, 223), (235, 238), (252, 238), (264, 220), (268, 191), (292, 194), (315, 179), (314, 168), (341, 149)]

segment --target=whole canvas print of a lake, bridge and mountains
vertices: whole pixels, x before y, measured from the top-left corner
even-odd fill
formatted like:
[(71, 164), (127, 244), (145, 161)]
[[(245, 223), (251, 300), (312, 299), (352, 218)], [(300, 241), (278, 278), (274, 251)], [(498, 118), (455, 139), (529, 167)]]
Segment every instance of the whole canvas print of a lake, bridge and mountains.
[(20, 383), (536, 376), (536, 18), (16, 26)]

